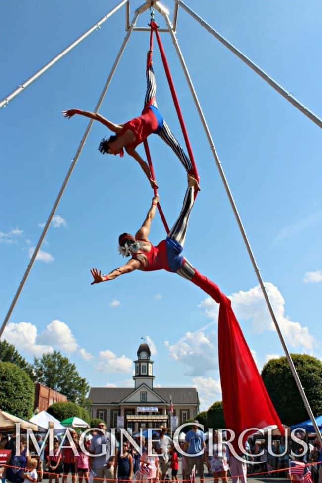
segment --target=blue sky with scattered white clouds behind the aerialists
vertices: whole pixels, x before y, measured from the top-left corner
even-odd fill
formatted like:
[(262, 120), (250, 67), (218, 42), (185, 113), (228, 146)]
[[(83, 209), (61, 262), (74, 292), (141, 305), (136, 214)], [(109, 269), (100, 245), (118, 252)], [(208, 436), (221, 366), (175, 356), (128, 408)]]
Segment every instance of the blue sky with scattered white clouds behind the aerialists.
[[(172, 1), (165, 5), (173, 11)], [(190, 0), (195, 11), (302, 103), (322, 116), (318, 0)], [(131, 1), (131, 10), (140, 4)], [(0, 97), (99, 20), (114, 2), (2, 2)], [(145, 26), (149, 14), (138, 25)], [(156, 20), (162, 25), (159, 16)], [(66, 108), (93, 110), (124, 38), (124, 9), (0, 112), (0, 316), (4, 318), (37, 243), (41, 224), (86, 128)], [(268, 294), (292, 352), (322, 357), (321, 130), (231, 54), (184, 11), (177, 35)], [(187, 258), (231, 296), (258, 366), (282, 355), (257, 278), (232, 214), (206, 136), (168, 34), (162, 41), (177, 88), (202, 191), (185, 244)], [(145, 94), (148, 34), (133, 33), (100, 112), (135, 117)], [(157, 49), (159, 107), (182, 140)], [(217, 308), (203, 292), (166, 273), (133, 273), (90, 285), (90, 268), (122, 262), (117, 237), (135, 232), (151, 188), (128, 156), (102, 156), (107, 135), (96, 123), (57, 209), (5, 337), (32, 359), (55, 349), (91, 385), (131, 385), (140, 337), (154, 347), (155, 383), (197, 386), (202, 407), (220, 399)], [(179, 213), (184, 171), (151, 137), (160, 199), (168, 223)], [(142, 147), (139, 151), (143, 154)], [(151, 240), (164, 237), (156, 216)]]

